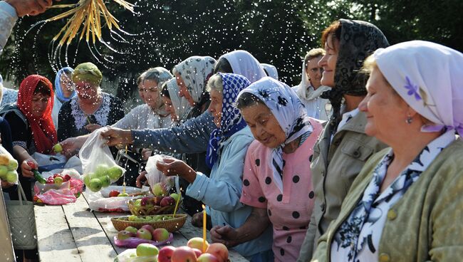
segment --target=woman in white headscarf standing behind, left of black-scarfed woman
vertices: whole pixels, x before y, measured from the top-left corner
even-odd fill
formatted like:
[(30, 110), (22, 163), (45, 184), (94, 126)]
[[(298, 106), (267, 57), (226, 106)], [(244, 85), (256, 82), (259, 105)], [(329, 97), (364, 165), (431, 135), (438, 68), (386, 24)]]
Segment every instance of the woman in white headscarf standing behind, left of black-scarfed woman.
[(323, 56), (325, 56), (325, 50), (322, 48), (308, 51), (302, 63), (301, 83), (293, 86), (293, 89), (306, 107), (309, 117), (327, 121), (331, 117), (330, 100), (321, 98), (320, 96), (331, 88), (321, 85), (323, 68), (318, 66), (318, 62)]

